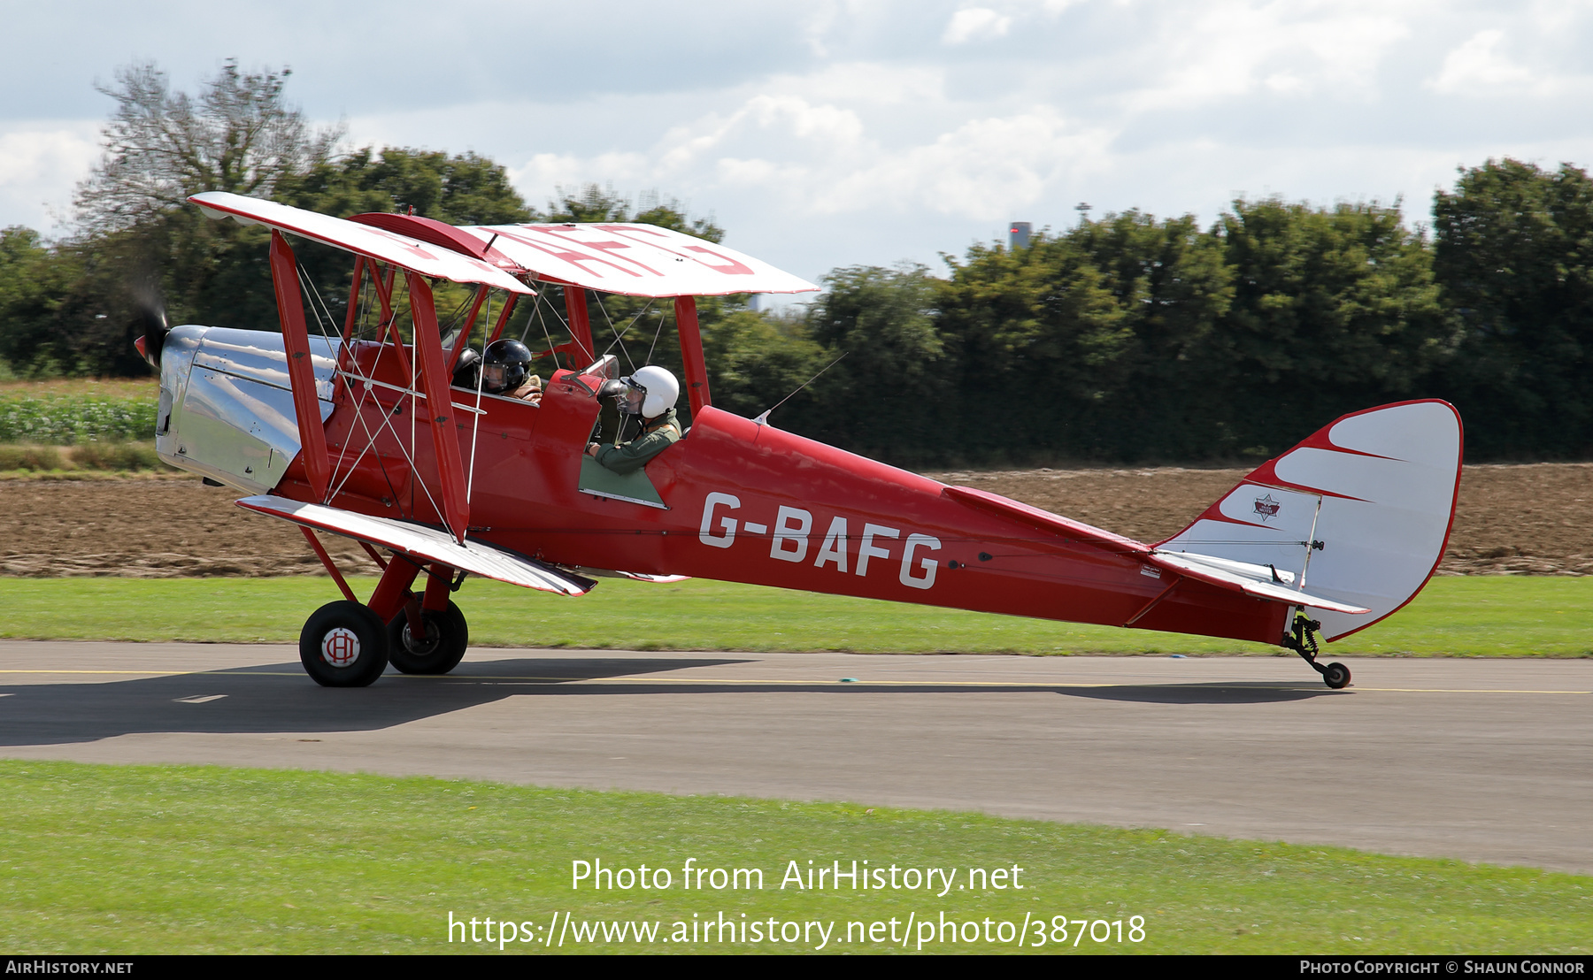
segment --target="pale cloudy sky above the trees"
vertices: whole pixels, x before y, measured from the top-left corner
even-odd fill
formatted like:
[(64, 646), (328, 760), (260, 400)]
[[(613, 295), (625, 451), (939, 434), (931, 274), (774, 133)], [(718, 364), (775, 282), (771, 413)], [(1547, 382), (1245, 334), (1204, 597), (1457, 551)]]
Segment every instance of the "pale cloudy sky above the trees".
[[(137, 8), (137, 14), (129, 13)], [(1593, 0), (3, 0), (0, 224), (61, 234), (119, 65), (226, 57), (349, 145), (465, 151), (542, 204), (661, 191), (817, 278), (1074, 207), (1403, 197), (1456, 167), (1593, 165)]]

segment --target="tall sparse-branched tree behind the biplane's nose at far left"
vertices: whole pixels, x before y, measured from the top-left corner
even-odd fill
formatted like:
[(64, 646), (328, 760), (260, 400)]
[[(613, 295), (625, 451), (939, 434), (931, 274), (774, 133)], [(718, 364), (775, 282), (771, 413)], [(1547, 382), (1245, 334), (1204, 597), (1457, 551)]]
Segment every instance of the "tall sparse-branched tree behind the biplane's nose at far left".
[(228, 60), (188, 95), (139, 62), (100, 88), (116, 103), (104, 153), (78, 185), (73, 235), (54, 250), (76, 272), (57, 298), (57, 320), (73, 334), (72, 369), (147, 371), (131, 340), (135, 296), (151, 280), (178, 323), (274, 328), (263, 229), (209, 221), (186, 199), (269, 197), (330, 159), (341, 127), (312, 129), (285, 100), (288, 75)]

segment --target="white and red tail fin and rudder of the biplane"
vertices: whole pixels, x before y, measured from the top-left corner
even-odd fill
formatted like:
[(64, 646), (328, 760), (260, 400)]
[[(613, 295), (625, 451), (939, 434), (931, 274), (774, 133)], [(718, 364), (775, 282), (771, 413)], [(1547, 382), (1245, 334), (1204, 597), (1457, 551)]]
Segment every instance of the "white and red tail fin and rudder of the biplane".
[(1338, 640), (1408, 603), (1443, 558), (1461, 488), (1461, 415), (1405, 401), (1335, 420), (1263, 463), (1158, 552), (1294, 573), (1370, 616), (1313, 611)]

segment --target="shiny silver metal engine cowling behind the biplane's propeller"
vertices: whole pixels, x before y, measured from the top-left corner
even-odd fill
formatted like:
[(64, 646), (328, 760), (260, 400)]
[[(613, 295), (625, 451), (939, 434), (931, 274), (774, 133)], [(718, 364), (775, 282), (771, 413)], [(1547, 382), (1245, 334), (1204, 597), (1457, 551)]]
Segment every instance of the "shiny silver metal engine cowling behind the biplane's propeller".
[[(325, 423), (341, 344), (311, 337), (309, 347)], [(159, 356), (159, 457), (247, 493), (274, 488), (299, 452), (282, 334), (186, 325), (166, 336)]]

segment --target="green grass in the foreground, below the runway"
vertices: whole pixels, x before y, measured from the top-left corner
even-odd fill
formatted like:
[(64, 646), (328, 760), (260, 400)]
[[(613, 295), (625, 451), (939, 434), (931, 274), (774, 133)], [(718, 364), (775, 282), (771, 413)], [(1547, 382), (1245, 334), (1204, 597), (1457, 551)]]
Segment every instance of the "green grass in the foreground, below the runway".
[[(1074, 953), (1588, 953), (1593, 878), (1163, 830), (728, 797), (553, 791), (215, 767), (0, 762), (0, 947), (27, 953), (497, 953), (448, 915), (532, 923), (1145, 921)], [(761, 869), (687, 891), (680, 869)], [(573, 861), (674, 888), (570, 888)], [(1015, 889), (781, 889), (790, 861), (1023, 869)], [(935, 889), (937, 892), (940, 888)], [(889, 928), (889, 926), (887, 926)], [(1031, 926), (1032, 929), (1032, 926)], [(1099, 934), (1099, 926), (1096, 926)], [(1072, 935), (1074, 926), (1069, 926)], [(518, 934), (518, 928), (516, 928)], [(481, 931), (478, 929), (478, 935)], [(898, 931), (900, 935), (900, 931)], [(538, 942), (516, 951), (550, 951)], [(911, 950), (916, 943), (908, 942)], [(1031, 937), (1032, 939), (1032, 937)], [(554, 940), (556, 942), (556, 940)], [(811, 943), (575, 943), (562, 951), (804, 951)], [(505, 950), (507, 951), (507, 950)], [(926, 951), (1018, 951), (957, 942)], [(1029, 950), (1024, 950), (1029, 951)]]

